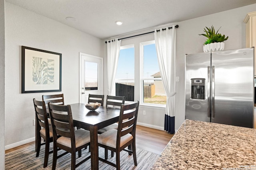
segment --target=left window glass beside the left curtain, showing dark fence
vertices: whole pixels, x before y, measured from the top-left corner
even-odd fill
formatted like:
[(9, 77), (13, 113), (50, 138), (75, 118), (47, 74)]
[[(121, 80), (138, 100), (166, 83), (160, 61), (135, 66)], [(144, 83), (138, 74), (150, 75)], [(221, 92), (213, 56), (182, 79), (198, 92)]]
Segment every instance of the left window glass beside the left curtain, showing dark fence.
[(126, 101), (134, 101), (134, 46), (120, 47), (116, 70), (116, 96), (125, 96)]

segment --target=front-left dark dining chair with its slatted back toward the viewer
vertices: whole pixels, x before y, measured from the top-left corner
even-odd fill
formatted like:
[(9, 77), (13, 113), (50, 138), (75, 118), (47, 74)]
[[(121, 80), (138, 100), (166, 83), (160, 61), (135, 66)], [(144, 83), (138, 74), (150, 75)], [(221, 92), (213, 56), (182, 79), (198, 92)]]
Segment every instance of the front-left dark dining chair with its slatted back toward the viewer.
[[(58, 156), (58, 148), (71, 153), (71, 170), (74, 170), (90, 159), (90, 156), (87, 156), (76, 164), (76, 152), (78, 151), (78, 157), (81, 157), (81, 150), (90, 145), (90, 132), (84, 129), (74, 130), (70, 105), (48, 103), (48, 107), (53, 129), (52, 170), (56, 169), (57, 158), (62, 156), (62, 154)], [(57, 134), (60, 137), (57, 137)]]

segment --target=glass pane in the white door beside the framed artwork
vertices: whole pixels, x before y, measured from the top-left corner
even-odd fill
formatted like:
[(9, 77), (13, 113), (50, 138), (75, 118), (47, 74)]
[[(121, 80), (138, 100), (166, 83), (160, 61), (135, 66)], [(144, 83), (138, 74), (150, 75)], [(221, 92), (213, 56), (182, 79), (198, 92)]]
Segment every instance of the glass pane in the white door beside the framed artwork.
[(84, 66), (85, 90), (98, 90), (98, 63), (86, 61)]

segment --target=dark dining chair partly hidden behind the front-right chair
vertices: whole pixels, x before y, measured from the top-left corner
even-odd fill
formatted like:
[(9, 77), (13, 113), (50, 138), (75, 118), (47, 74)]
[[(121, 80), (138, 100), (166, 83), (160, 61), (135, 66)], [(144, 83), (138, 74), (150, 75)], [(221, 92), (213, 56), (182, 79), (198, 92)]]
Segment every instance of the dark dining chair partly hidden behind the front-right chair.
[[(106, 99), (106, 107), (121, 107), (122, 104), (124, 104), (125, 96), (109, 96), (107, 95)], [(104, 133), (106, 131), (109, 131), (111, 129), (117, 129), (118, 123), (114, 123), (112, 125), (109, 125), (107, 127), (103, 127), (102, 129), (98, 130), (98, 134)], [(114, 156), (114, 152), (111, 151), (111, 157)], [(108, 149), (105, 149), (105, 159), (108, 159)]]

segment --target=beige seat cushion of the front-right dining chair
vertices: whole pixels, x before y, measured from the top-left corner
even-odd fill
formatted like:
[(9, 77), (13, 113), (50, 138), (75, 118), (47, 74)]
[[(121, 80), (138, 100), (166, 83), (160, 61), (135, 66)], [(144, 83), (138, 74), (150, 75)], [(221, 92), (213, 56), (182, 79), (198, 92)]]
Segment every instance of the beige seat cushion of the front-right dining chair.
[[(112, 147), (112, 148), (116, 148), (116, 137), (117, 137), (117, 129), (111, 129), (109, 131), (106, 131), (98, 135), (98, 143)], [(133, 137), (130, 133), (122, 136), (120, 139), (120, 147), (122, 147), (124, 144), (126, 144), (128, 141), (132, 139)]]

